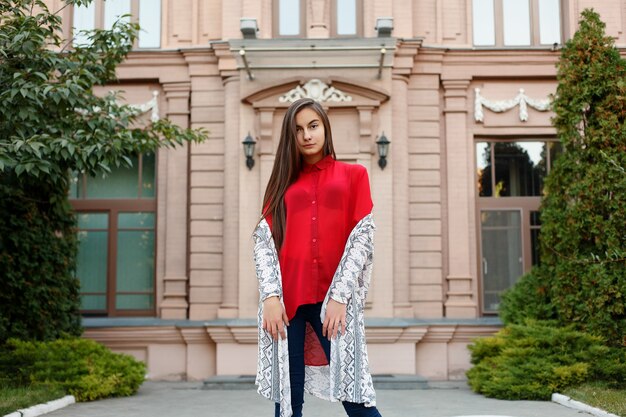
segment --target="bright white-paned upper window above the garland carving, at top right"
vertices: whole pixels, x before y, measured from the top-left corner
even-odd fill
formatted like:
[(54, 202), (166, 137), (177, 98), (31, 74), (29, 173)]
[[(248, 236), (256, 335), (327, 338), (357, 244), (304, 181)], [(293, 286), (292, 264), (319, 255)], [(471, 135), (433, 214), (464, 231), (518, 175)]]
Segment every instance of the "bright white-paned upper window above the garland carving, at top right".
[(474, 46), (561, 43), (560, 0), (473, 0)]

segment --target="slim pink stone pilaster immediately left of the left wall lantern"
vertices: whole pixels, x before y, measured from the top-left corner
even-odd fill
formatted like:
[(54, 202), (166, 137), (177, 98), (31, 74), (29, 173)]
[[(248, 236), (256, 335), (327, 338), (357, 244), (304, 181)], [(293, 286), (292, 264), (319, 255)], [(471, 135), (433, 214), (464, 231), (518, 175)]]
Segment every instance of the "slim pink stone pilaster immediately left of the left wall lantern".
[(239, 299), (239, 75), (224, 78), (224, 228), (220, 318), (238, 316)]

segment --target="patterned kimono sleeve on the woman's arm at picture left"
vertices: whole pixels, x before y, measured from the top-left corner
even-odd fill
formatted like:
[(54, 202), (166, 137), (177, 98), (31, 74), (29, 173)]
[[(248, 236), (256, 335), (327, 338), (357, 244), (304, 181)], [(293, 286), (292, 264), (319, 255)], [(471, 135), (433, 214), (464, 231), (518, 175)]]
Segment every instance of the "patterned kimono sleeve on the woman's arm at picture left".
[(280, 264), (273, 242), (269, 227), (263, 220), (254, 233), (254, 264), (261, 301), (272, 296), (282, 296)]

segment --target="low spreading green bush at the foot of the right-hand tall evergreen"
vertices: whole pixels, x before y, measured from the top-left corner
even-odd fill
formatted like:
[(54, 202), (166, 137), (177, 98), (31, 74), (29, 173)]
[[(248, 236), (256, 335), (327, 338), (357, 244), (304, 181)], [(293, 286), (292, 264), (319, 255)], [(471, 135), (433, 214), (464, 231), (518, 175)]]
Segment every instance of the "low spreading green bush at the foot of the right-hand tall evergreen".
[(528, 321), (512, 324), (469, 346), (470, 387), (488, 397), (548, 400), (554, 392), (601, 380), (626, 388), (626, 350), (598, 336)]

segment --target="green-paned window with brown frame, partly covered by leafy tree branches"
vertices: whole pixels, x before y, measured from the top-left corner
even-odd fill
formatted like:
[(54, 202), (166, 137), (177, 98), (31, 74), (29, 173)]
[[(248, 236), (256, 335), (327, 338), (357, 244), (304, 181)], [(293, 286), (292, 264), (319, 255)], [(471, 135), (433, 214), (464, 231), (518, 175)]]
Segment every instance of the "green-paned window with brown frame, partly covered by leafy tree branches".
[(81, 310), (137, 316), (155, 311), (155, 157), (106, 178), (76, 175), (70, 201), (78, 218)]

